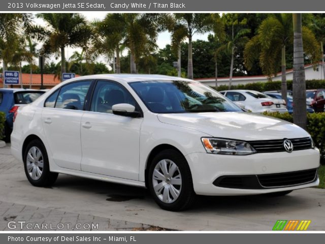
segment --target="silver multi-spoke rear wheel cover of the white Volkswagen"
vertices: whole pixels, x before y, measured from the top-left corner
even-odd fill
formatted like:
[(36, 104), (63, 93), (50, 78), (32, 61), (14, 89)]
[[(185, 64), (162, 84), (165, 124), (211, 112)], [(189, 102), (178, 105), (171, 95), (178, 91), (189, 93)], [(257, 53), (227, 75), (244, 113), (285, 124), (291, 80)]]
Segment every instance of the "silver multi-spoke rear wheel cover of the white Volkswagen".
[(26, 158), (26, 169), (31, 179), (38, 180), (43, 173), (43, 155), (37, 146), (32, 146), (28, 150)]

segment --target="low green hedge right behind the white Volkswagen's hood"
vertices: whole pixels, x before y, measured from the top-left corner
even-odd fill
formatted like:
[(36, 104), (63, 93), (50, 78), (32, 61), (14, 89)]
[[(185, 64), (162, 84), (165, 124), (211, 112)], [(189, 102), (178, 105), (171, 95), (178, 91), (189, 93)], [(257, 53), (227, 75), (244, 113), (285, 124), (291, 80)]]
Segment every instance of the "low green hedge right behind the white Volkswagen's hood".
[[(289, 113), (264, 112), (263, 114), (291, 123), (294, 121), (293, 115)], [(321, 163), (325, 164), (325, 113), (307, 113), (307, 131), (320, 151)]]

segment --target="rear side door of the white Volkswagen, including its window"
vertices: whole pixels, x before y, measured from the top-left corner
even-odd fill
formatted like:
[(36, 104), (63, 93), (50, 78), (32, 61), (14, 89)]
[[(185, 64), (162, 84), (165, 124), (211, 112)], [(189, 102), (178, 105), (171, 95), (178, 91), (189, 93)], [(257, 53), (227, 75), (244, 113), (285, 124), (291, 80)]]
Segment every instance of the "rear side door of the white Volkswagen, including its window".
[(62, 86), (46, 101), (42, 123), (52, 158), (62, 168), (80, 170), (80, 121), (91, 80)]

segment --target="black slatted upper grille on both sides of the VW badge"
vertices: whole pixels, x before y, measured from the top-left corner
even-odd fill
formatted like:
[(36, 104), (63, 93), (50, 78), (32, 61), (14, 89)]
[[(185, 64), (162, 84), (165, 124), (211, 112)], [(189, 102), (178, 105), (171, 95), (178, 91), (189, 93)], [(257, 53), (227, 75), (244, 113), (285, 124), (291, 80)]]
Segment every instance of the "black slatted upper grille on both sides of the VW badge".
[[(285, 151), (283, 140), (263, 140), (263, 141), (249, 141), (249, 144), (254, 147), (257, 153), (275, 153), (278, 151)], [(310, 137), (289, 139), (294, 145), (294, 151), (311, 148)]]

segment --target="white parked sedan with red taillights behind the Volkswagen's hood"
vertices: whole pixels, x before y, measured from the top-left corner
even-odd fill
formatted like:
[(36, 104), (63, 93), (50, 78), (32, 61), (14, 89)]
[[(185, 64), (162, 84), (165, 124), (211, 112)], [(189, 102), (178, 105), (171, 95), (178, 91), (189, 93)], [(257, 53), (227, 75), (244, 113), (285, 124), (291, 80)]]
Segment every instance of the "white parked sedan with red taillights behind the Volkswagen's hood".
[(220, 93), (238, 106), (244, 105), (246, 110), (253, 113), (265, 111), (284, 113), (288, 111), (283, 99), (271, 98), (266, 94), (256, 92), (256, 90), (223, 90)]

